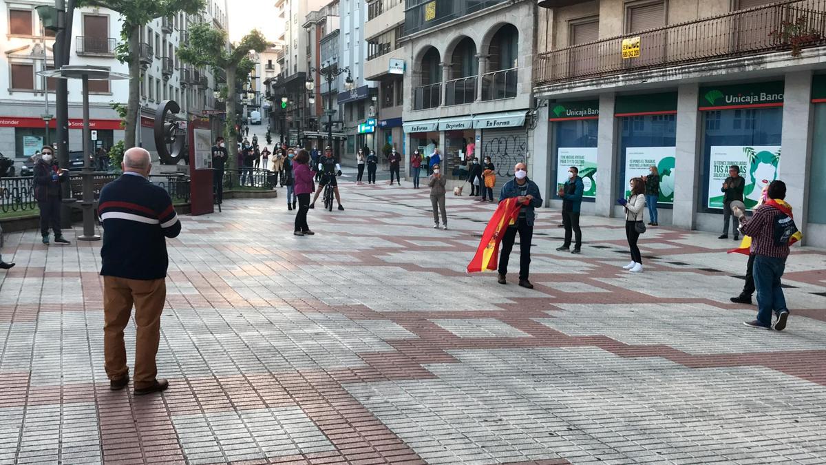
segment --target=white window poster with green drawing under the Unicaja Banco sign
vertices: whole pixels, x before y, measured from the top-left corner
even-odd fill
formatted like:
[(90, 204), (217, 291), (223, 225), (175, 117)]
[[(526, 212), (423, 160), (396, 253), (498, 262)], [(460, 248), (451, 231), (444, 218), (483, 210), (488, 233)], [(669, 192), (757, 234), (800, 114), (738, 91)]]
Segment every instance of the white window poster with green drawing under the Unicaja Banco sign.
[(710, 209), (723, 208), (723, 183), (729, 177), (729, 166), (738, 165), (746, 180), (743, 190), (747, 209), (760, 200), (763, 188), (780, 174), (780, 146), (712, 146), (709, 159)]

